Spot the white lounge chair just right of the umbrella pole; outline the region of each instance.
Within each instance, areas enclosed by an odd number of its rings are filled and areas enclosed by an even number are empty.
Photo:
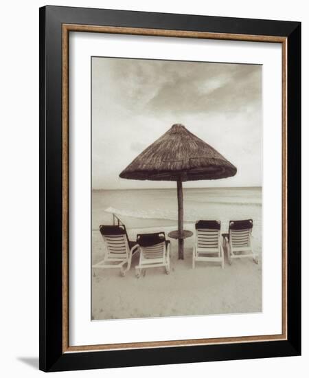
[[[225,267],[225,257],[220,238],[220,221],[198,221],[192,254],[192,268],[196,261],[218,262]]]

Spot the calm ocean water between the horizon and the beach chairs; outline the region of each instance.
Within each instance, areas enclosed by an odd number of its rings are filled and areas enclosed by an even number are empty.
[[[184,223],[199,219],[221,221],[227,232],[230,220],[253,219],[253,236],[262,235],[262,188],[183,188]],[[92,230],[112,224],[116,214],[128,230],[177,227],[175,189],[93,190]]]

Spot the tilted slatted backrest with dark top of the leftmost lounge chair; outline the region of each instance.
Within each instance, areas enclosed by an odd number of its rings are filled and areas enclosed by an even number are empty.
[[[128,236],[124,225],[100,225],[108,254],[115,258],[128,256]]]

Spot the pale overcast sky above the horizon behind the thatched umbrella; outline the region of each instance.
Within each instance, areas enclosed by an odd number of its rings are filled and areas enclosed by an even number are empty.
[[[238,168],[186,188],[262,186],[262,66],[92,58],[93,189],[174,188],[119,173],[175,123]]]

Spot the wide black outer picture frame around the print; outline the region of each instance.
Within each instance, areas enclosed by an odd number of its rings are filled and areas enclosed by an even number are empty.
[[[40,8],[40,361],[44,371],[301,354],[301,23],[187,14]],[[185,30],[287,41],[287,339],[63,353],[62,25]]]

